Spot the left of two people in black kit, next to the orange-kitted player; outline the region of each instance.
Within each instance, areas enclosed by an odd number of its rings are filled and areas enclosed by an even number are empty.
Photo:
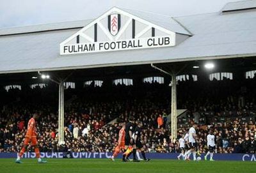
[[[134,132],[134,118],[129,117],[129,122],[125,124],[125,152],[123,154],[123,162],[127,162],[131,153],[125,154],[128,147],[132,146],[133,162],[140,162],[136,159],[136,146],[134,139],[132,139],[132,133]]]

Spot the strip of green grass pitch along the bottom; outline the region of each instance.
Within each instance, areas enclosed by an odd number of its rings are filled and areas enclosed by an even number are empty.
[[[186,162],[179,160],[150,160],[150,162],[111,162],[107,159],[47,159],[48,163],[38,164],[36,159],[22,159],[22,164],[14,163],[15,159],[0,159],[0,172],[15,173],[56,173],[56,172],[93,172],[93,173],[136,173],[136,172],[181,172],[181,173],[236,173],[256,172],[255,162]]]

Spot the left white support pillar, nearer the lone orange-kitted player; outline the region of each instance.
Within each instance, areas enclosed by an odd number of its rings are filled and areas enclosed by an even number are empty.
[[[58,119],[58,144],[64,142],[64,84],[59,84],[59,119]]]

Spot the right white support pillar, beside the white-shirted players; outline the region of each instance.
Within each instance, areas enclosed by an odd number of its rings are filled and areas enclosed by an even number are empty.
[[[172,74],[172,142],[177,139],[177,82],[176,82],[176,75]]]

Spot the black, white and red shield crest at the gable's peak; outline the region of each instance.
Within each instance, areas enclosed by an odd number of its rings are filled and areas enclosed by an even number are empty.
[[[113,35],[116,36],[121,26],[121,16],[120,14],[108,15],[108,30]]]

